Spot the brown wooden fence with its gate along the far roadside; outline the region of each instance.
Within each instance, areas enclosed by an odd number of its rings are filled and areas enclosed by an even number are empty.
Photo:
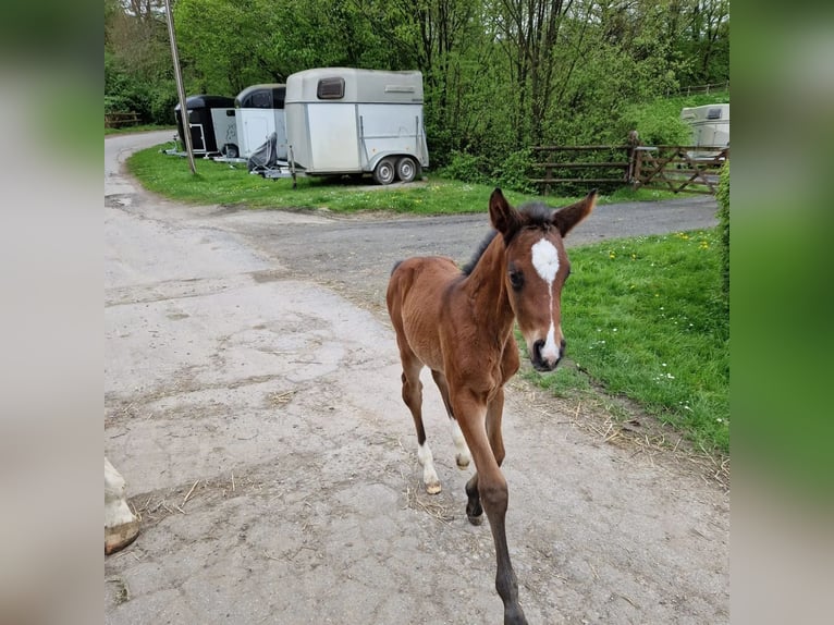
[[[721,166],[729,158],[729,148],[638,144],[539,146],[532,152],[530,182],[542,195],[625,185],[714,194]]]

